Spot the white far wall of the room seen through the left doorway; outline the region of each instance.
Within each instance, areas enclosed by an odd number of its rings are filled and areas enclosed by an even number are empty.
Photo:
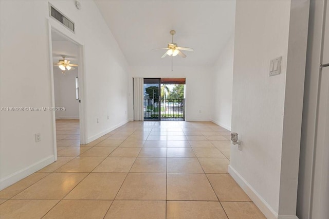
[[[62,70],[54,66],[55,106],[65,107],[65,111],[56,111],[56,119],[79,119],[79,101],[76,99],[76,76],[78,69],[71,69],[62,74]]]

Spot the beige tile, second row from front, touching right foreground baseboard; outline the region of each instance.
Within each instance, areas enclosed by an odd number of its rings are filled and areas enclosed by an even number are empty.
[[[229,174],[207,174],[207,177],[220,201],[251,202]]]

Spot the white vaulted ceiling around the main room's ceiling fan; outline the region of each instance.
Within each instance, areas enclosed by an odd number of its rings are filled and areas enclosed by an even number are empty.
[[[160,58],[174,29],[178,46],[193,47],[174,65],[213,65],[234,32],[235,1],[95,1],[130,65],[168,65]],[[96,25],[96,24],[95,24]]]

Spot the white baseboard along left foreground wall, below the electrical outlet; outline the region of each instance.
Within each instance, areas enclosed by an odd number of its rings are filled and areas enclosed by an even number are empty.
[[[50,163],[53,163],[55,161],[55,157],[53,155],[48,156],[38,162],[33,163],[32,165],[19,170],[15,173],[10,174],[7,177],[4,177],[0,180],[0,190],[3,190],[7,188],[8,186],[14,184],[15,182],[31,175],[32,173],[35,173],[38,170],[41,170],[42,168],[46,167],[47,165],[50,165]]]

